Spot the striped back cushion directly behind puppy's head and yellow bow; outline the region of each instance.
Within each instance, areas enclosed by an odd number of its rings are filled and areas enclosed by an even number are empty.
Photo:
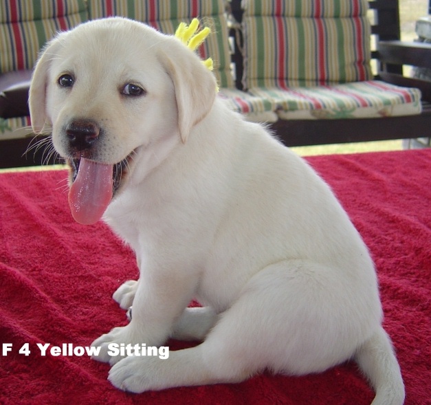
[[[214,32],[199,47],[201,57],[213,59],[214,74],[220,87],[234,87],[223,0],[89,0],[88,3],[91,19],[128,17],[148,23],[165,34],[174,34],[179,23],[190,23],[199,17]]]

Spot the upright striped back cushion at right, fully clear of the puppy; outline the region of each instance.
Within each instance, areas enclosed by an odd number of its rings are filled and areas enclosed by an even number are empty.
[[[246,5],[246,89],[372,78],[366,0],[248,0]]]

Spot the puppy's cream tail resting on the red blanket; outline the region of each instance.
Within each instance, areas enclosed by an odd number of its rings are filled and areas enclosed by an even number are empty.
[[[355,353],[355,360],[375,389],[371,405],[404,403],[404,383],[392,342],[381,327]]]

